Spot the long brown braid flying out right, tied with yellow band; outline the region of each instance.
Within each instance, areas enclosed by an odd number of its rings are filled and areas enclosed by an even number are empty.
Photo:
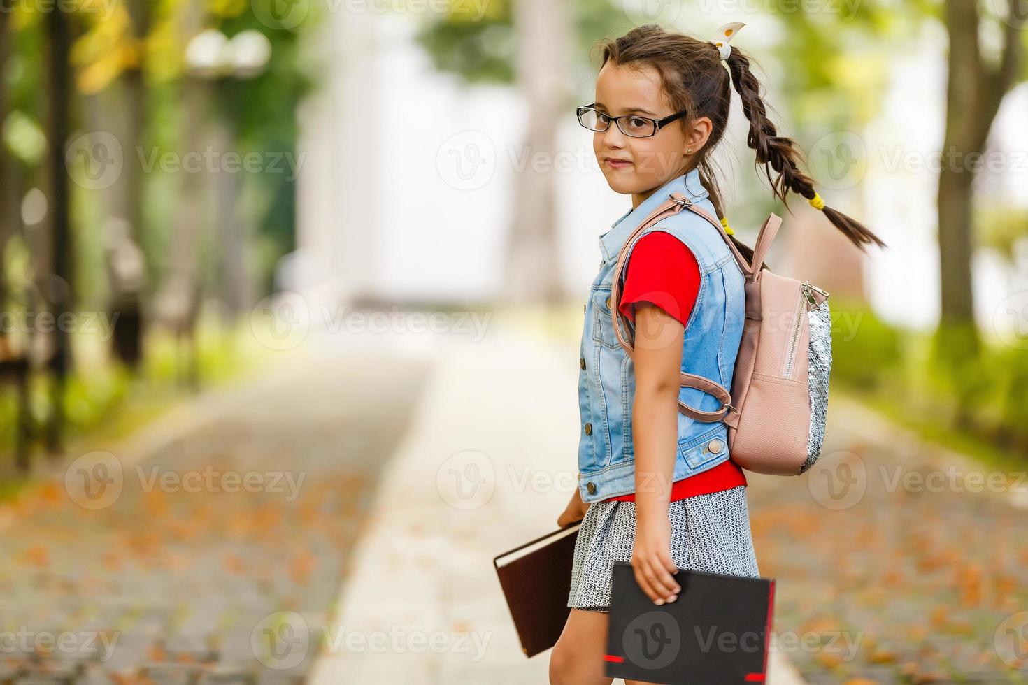
[[[749,60],[741,50],[733,47],[727,62],[732,73],[732,83],[742,100],[742,112],[749,121],[746,145],[757,152],[756,163],[758,166],[763,164],[774,194],[786,206],[788,206],[786,199],[788,191],[802,195],[812,206],[823,212],[828,220],[861,251],[866,252],[865,245],[870,243],[886,246],[881,238],[860,222],[837,210],[824,206],[824,201],[814,190],[813,180],[797,165],[801,154],[796,142],[791,138],[779,136],[774,123],[768,118],[764,99],[761,97],[761,83],[749,70]],[[772,177],[772,169],[777,176]]]

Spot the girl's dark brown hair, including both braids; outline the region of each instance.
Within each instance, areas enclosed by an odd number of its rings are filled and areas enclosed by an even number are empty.
[[[660,74],[664,93],[674,111],[687,112],[682,120],[683,126],[699,117],[709,117],[713,124],[710,137],[691,157],[691,163],[682,173],[699,168],[700,181],[710,193],[710,201],[719,216],[725,215],[722,212],[721,193],[710,162],[710,153],[721,142],[728,124],[732,85],[742,100],[742,113],[749,120],[746,144],[757,152],[756,164],[758,167],[764,166],[775,196],[786,207],[786,194],[790,191],[808,200],[814,197],[813,181],[798,166],[802,156],[796,142],[779,136],[768,118],[761,94],[761,83],[749,70],[749,59],[739,48],[732,47],[726,70],[721,53],[712,43],[688,34],[667,32],[656,24],[637,27],[617,39],[607,38],[595,47],[602,50],[600,68],[610,61],[615,65],[651,66],[656,69]],[[885,246],[877,235],[856,220],[828,206],[822,212],[860,250],[872,242]],[[751,249],[734,235],[731,237],[743,256],[747,259],[752,257]]]

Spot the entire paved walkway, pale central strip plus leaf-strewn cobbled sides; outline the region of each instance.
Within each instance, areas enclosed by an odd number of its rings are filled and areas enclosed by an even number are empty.
[[[363,336],[0,510],[0,683],[547,682],[491,558],[574,488],[577,341]],[[771,684],[1028,681],[1024,493],[832,403],[811,473],[749,477]]]

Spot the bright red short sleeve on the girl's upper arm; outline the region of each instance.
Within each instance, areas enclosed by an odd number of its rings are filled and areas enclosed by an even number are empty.
[[[635,321],[636,302],[651,302],[686,326],[700,291],[700,266],[692,251],[666,231],[639,238],[628,260],[620,311]]]

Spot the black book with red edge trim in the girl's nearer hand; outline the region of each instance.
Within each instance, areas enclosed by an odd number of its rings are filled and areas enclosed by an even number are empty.
[[[680,569],[678,598],[656,605],[628,562],[614,563],[607,675],[668,685],[767,678],[774,579]]]

